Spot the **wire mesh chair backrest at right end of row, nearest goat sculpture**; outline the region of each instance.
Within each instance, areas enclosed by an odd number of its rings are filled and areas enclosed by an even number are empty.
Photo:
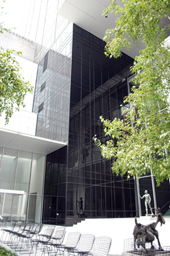
[[[106,256],[110,251],[112,239],[107,236],[96,237],[94,240],[93,251],[91,252],[94,256]]]

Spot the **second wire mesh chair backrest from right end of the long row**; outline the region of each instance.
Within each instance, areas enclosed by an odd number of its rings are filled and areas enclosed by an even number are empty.
[[[75,249],[78,250],[78,252],[90,252],[94,244],[94,239],[95,236],[92,234],[81,235],[78,246],[76,246]]]

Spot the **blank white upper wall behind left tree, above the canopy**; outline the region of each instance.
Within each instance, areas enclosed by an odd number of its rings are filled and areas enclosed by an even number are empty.
[[[36,44],[8,31],[3,31],[3,34],[1,34],[0,44],[3,49],[14,49],[15,51],[22,52],[22,55],[19,56],[14,54],[16,60],[22,67],[20,74],[22,74],[25,81],[29,81],[31,86],[34,87],[38,66],[33,62]],[[0,117],[0,128],[35,135],[37,115],[32,113],[33,98],[34,93],[27,93],[24,100],[25,108],[21,106],[20,111],[14,111],[8,125],[5,125],[5,115],[3,114]]]

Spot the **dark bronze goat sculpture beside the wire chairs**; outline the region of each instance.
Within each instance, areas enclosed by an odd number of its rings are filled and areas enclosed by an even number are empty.
[[[163,218],[163,215],[160,213],[160,208],[157,210],[155,209],[155,214],[153,214],[152,217],[157,216],[157,221],[150,223],[148,225],[143,225],[141,223],[137,222],[137,219],[135,217],[135,227],[134,227],[134,249],[136,249],[136,245],[139,247],[140,245],[145,248],[145,243],[151,243],[151,248],[154,248],[152,242],[155,240],[155,237],[157,238],[158,244],[159,244],[159,250],[162,250],[162,247],[160,245],[159,241],[159,233],[155,229],[157,227],[157,223],[160,222],[160,226],[162,224],[165,224],[166,221]],[[146,249],[145,249],[146,250]]]

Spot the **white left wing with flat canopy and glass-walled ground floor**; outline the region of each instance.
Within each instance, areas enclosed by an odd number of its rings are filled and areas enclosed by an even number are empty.
[[[4,49],[22,51],[22,55],[14,57],[22,67],[22,76],[34,86],[38,67],[33,61],[36,44],[8,31],[3,31],[0,42]],[[4,115],[0,118],[0,214],[41,222],[46,154],[66,143],[35,136],[37,115],[32,113],[33,98],[34,94],[27,95],[25,108],[14,111],[8,125]]]

